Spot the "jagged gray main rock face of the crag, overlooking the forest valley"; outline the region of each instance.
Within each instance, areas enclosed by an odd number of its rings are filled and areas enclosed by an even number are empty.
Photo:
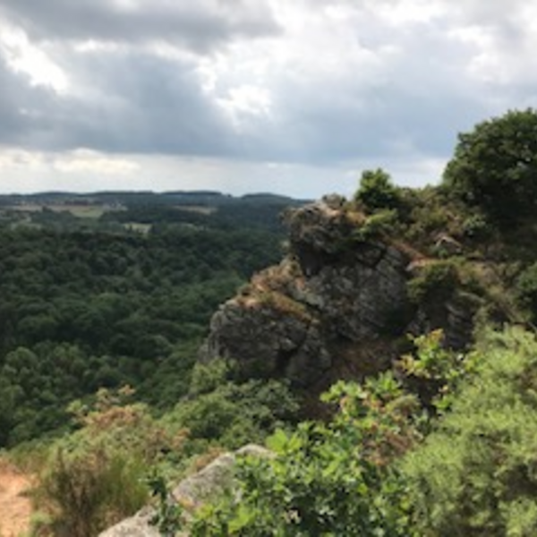
[[[310,387],[329,376],[341,341],[360,344],[408,308],[409,258],[382,242],[350,243],[356,223],[324,202],[294,212],[290,253],[213,316],[200,352],[245,376]]]

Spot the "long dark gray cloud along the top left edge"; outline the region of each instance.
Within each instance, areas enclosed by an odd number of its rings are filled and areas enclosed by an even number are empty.
[[[162,40],[206,52],[235,37],[277,34],[267,4],[242,0],[137,2],[125,7],[110,0],[3,0],[0,13],[35,41]]]

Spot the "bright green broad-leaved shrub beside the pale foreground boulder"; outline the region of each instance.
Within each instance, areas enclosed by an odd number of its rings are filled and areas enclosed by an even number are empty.
[[[415,401],[389,375],[338,383],[339,413],[268,439],[274,457],[246,458],[238,490],[202,507],[193,536],[412,535],[405,483],[390,462],[413,442]],[[237,498],[240,502],[237,502]]]

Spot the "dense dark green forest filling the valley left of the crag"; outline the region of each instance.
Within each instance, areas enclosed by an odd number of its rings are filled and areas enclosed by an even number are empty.
[[[0,446],[54,431],[72,400],[98,388],[129,385],[155,407],[175,405],[211,313],[278,260],[282,201],[225,197],[223,209],[202,211],[164,198],[99,217],[83,217],[89,203],[102,207],[95,197],[72,205],[72,196],[49,194],[32,199],[42,206],[29,213],[21,199],[4,205]],[[112,207],[120,203],[116,195]]]

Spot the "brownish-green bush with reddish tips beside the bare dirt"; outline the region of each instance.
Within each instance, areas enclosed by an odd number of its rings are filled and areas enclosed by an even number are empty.
[[[93,537],[149,500],[149,465],[182,447],[145,405],[122,402],[131,390],[99,390],[93,406],[71,406],[81,429],[55,442],[39,474],[36,503],[54,535]]]

